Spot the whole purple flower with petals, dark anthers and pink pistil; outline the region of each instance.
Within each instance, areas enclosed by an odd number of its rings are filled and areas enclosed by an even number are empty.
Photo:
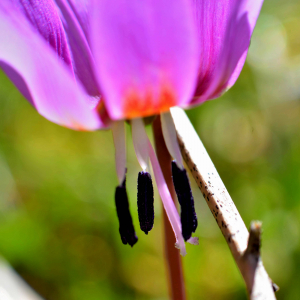
[[[154,224],[151,162],[158,191],[185,254],[196,243],[194,200],[170,115],[220,96],[239,76],[263,0],[2,0],[0,67],[44,117],[75,130],[110,128],[119,185],[122,242],[137,237],[126,193],[125,124],[137,159],[138,213]],[[174,158],[172,201],[144,120],[160,115]]]

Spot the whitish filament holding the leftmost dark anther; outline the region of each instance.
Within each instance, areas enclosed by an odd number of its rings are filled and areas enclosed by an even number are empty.
[[[121,186],[126,173],[126,137],[124,121],[112,122],[111,130],[115,144],[116,171],[119,186]]]

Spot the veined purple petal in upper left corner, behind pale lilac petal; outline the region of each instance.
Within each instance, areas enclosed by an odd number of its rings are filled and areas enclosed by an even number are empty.
[[[1,0],[19,8],[58,56],[71,68],[71,55],[64,28],[53,0]]]

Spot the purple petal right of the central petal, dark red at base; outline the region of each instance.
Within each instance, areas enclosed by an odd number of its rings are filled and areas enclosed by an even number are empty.
[[[191,104],[230,88],[244,65],[263,0],[195,0],[200,69]]]

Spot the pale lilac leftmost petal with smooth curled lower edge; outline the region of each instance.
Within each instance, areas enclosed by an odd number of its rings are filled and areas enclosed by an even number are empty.
[[[70,70],[10,4],[0,3],[0,66],[37,111],[77,130],[103,126]]]

